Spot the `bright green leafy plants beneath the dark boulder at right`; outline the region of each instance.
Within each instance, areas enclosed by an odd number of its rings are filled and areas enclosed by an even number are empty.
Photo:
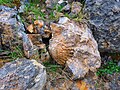
[[[120,72],[120,66],[117,65],[116,61],[110,61],[106,65],[103,65],[100,69],[98,69],[97,75],[103,76],[106,74],[113,74],[115,72]]]

